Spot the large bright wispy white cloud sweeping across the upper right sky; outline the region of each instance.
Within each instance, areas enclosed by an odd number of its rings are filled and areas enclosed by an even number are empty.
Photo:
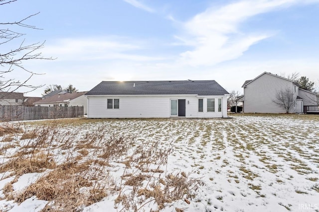
[[[308,3],[318,2],[309,0]],[[255,15],[289,7],[302,0],[240,0],[219,8],[210,7],[183,23],[184,33],[176,36],[180,44],[190,46],[178,63],[211,66],[233,60],[252,45],[273,36],[274,32],[245,32],[240,25]]]

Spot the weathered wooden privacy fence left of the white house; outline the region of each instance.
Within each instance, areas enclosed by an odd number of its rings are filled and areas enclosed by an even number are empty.
[[[38,119],[60,119],[83,117],[83,107],[42,107],[42,106],[0,106],[1,121],[22,121]]]

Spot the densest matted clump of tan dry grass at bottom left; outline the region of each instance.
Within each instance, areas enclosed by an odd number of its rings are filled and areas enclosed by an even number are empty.
[[[28,186],[20,195],[15,197],[17,203],[36,196],[40,200],[49,201],[44,210],[51,212],[70,211],[75,212],[82,207],[101,201],[107,196],[105,185],[94,182],[93,177],[88,175],[89,163],[68,161],[58,165],[47,175],[38,179]],[[110,183],[112,184],[112,183]]]

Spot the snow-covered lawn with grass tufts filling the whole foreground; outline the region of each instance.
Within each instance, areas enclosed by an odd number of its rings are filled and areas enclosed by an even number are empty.
[[[71,204],[47,185],[57,178],[64,190],[77,183],[73,211],[318,212],[319,116],[231,117],[21,125],[24,133],[0,137],[0,212]],[[37,165],[6,167],[13,159],[10,166]],[[38,185],[52,198],[41,198]]]

